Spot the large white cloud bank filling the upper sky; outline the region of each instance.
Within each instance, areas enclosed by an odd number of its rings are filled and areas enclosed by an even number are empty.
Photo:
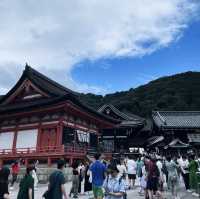
[[[48,75],[64,72],[73,89],[101,92],[71,78],[75,64],[166,47],[198,9],[198,0],[1,0],[0,70],[10,62],[22,70],[28,62]]]

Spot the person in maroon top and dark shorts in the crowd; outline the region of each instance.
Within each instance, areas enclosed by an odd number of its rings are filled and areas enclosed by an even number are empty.
[[[149,199],[153,199],[153,195],[162,198],[162,194],[158,190],[160,172],[156,165],[156,158],[150,157],[147,162],[147,192]]]

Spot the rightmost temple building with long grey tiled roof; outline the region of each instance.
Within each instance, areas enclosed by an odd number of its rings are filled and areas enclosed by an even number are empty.
[[[186,151],[200,148],[200,111],[153,111],[152,147],[166,151]]]

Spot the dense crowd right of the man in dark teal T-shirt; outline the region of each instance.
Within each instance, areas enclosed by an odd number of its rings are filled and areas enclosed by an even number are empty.
[[[85,184],[88,185],[88,181],[91,183],[89,190],[93,190],[95,199],[124,199],[127,190],[135,189],[136,180],[139,182],[138,194],[145,199],[163,199],[165,191],[171,194],[172,199],[178,199],[181,183],[184,183],[187,192],[197,195],[200,165],[194,154],[179,157],[139,155],[123,159],[113,158],[108,162],[96,154],[95,161],[88,165],[87,163],[85,176],[88,179],[85,179]],[[77,171],[76,175],[79,175],[78,166],[74,169]],[[76,182],[79,178],[75,177],[76,175],[73,176],[70,193],[70,196],[74,194],[74,198],[78,198],[79,194],[75,191],[78,190],[75,184],[79,186]]]

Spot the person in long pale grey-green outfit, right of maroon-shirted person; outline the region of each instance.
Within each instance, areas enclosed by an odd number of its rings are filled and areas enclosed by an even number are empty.
[[[178,198],[177,188],[179,183],[178,177],[178,165],[170,156],[167,157],[166,168],[168,171],[168,188],[171,190],[172,197]]]

